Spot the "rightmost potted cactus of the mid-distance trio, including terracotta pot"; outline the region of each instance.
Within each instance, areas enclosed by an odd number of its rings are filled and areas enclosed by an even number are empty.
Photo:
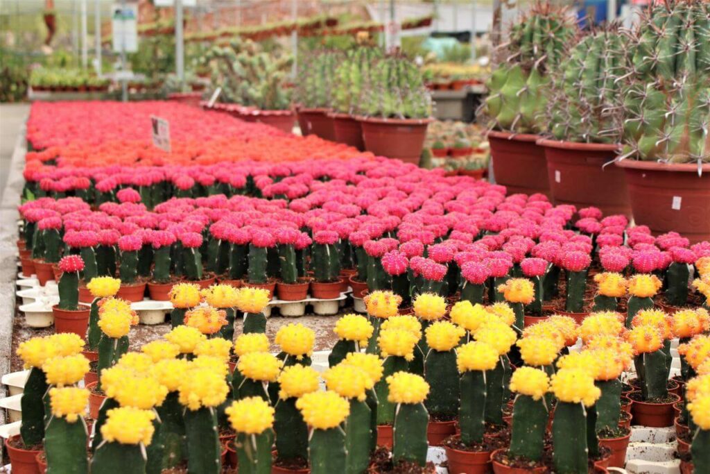
[[[376,58],[370,70],[358,117],[365,148],[418,165],[432,122],[431,97],[422,72],[403,55]]]

